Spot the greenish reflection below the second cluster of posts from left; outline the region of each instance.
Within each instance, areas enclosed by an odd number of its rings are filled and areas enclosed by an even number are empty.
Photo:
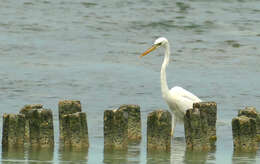
[[[63,162],[86,163],[88,162],[88,148],[59,147],[59,160]]]

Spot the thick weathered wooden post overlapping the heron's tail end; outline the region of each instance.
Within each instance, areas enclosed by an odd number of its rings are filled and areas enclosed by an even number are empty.
[[[188,150],[215,149],[217,105],[215,102],[194,103],[184,116],[186,147]]]

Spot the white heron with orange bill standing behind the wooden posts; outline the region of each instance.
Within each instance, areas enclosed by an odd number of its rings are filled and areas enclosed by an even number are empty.
[[[201,102],[201,100],[182,87],[175,86],[172,89],[168,88],[166,67],[170,61],[170,45],[166,38],[160,37],[156,39],[152,47],[141,54],[140,57],[147,55],[159,47],[165,48],[164,60],[161,68],[161,91],[163,99],[166,101],[173,114],[171,132],[173,135],[177,120],[183,120],[185,111],[192,108],[193,103]]]

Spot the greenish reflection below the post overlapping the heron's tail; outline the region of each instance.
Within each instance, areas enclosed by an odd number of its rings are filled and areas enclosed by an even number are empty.
[[[185,151],[184,163],[204,164],[208,159],[208,152]]]

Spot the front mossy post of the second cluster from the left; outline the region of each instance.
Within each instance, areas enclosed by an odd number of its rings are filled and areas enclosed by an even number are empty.
[[[84,112],[62,115],[63,145],[67,148],[88,148],[87,116]]]

